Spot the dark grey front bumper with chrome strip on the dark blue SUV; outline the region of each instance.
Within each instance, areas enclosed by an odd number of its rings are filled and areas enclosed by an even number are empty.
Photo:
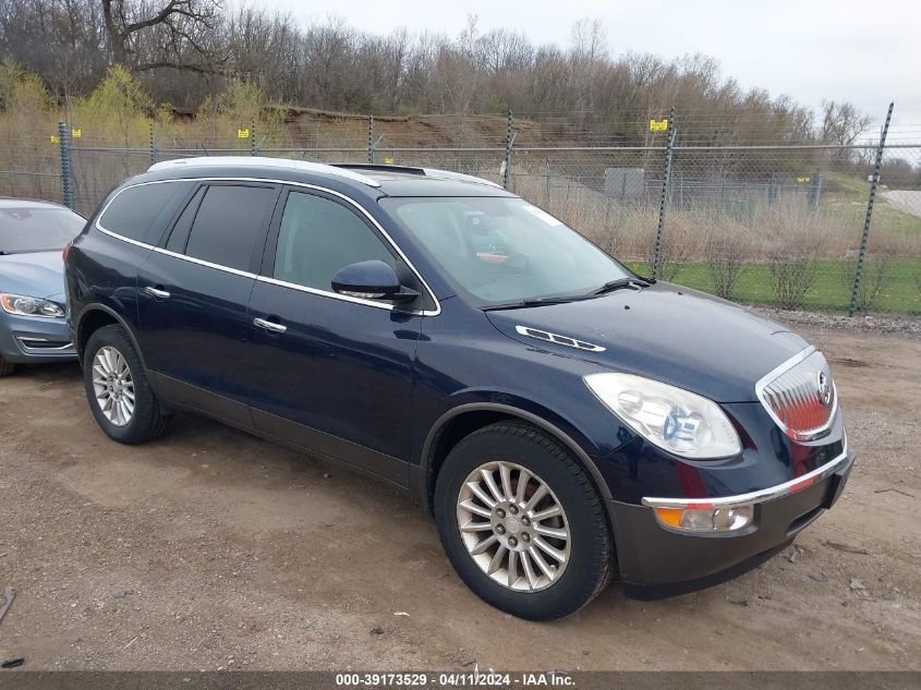
[[[809,477],[740,496],[695,499],[726,506],[753,503],[754,520],[738,532],[681,532],[659,523],[650,506],[607,501],[625,593],[632,598],[663,598],[719,584],[751,570],[832,507],[852,467],[853,453],[845,452]]]

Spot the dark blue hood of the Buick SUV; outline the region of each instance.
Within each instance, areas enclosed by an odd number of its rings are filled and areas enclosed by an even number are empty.
[[[663,282],[581,302],[486,314],[502,334],[525,344],[717,402],[755,402],[755,382],[809,344],[731,302]],[[519,327],[572,338],[595,350],[542,341]]]

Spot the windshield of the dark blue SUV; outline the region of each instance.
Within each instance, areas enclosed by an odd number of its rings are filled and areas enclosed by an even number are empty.
[[[562,221],[521,198],[385,197],[380,205],[478,306],[581,296],[633,277]]]

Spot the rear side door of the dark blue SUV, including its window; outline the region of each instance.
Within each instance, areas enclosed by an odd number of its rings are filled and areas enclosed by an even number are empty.
[[[243,426],[246,310],[278,194],[274,184],[199,185],[137,277],[138,341],[158,392]]]

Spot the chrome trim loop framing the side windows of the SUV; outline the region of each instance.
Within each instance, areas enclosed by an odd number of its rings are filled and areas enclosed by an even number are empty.
[[[206,261],[201,259],[201,258],[195,258],[194,256],[186,256],[185,254],[178,254],[175,252],[170,252],[169,250],[165,250],[165,249],[159,247],[159,246],[154,246],[153,244],[147,244],[146,242],[141,242],[138,240],[133,240],[131,238],[126,238],[124,235],[119,234],[118,232],[113,232],[112,230],[108,230],[100,225],[99,220],[101,220],[102,216],[106,215],[106,211],[109,209],[109,206],[112,204],[112,202],[114,202],[118,198],[119,194],[121,194],[125,190],[134,189],[136,186],[144,186],[144,185],[147,185],[147,184],[166,184],[168,182],[264,182],[264,183],[267,183],[267,184],[284,184],[284,185],[289,185],[289,186],[314,190],[316,192],[323,192],[325,194],[329,194],[331,196],[335,196],[336,198],[340,198],[343,202],[351,205],[352,207],[356,208],[359,211],[361,211],[362,216],[364,218],[367,218],[367,220],[375,228],[377,228],[377,230],[380,232],[380,234],[384,237],[384,239],[387,241],[387,243],[389,243],[389,245],[393,249],[393,251],[397,252],[399,257],[405,262],[407,266],[410,267],[410,270],[412,270],[413,275],[419,279],[419,281],[425,288],[425,291],[428,292],[428,295],[432,298],[432,301],[435,302],[435,308],[434,310],[421,310],[421,311],[419,311],[419,310],[413,310],[413,311],[410,311],[410,310],[402,311],[402,310],[400,310],[400,312],[404,313],[404,314],[414,314],[414,315],[419,315],[419,316],[438,316],[441,313],[441,303],[438,301],[438,298],[435,296],[435,292],[432,290],[432,288],[428,286],[428,283],[422,277],[422,274],[419,271],[419,269],[413,265],[413,263],[409,259],[409,257],[403,253],[403,251],[400,249],[400,246],[393,241],[393,238],[391,238],[390,234],[381,227],[381,225],[379,222],[377,222],[377,220],[374,218],[374,216],[372,216],[367,211],[367,209],[365,209],[361,204],[359,204],[354,199],[350,198],[346,194],[342,194],[341,192],[337,192],[336,190],[329,190],[325,186],[319,186],[319,185],[316,185],[316,184],[308,184],[306,182],[292,182],[292,181],[289,181],[289,180],[268,180],[268,179],[263,179],[263,178],[175,178],[175,179],[170,179],[170,180],[152,180],[149,182],[138,182],[136,184],[129,184],[128,186],[119,190],[116,193],[116,195],[112,196],[112,198],[110,198],[106,203],[106,205],[102,207],[102,210],[99,211],[99,215],[96,217],[96,221],[94,222],[94,227],[97,230],[99,230],[100,232],[104,232],[105,234],[108,234],[109,237],[116,238],[117,240],[122,240],[123,242],[128,242],[129,244],[133,244],[135,246],[141,246],[141,247],[144,247],[146,250],[157,252],[158,254],[165,254],[167,256],[180,258],[180,259],[183,259],[183,261],[186,261],[186,262],[191,262],[193,264],[198,264],[199,266],[206,266],[208,268],[214,268],[216,270],[223,270],[226,273],[233,274],[235,276],[254,278],[255,280],[258,280],[259,282],[266,282],[266,283],[279,286],[279,287],[282,287],[282,288],[291,288],[293,290],[300,290],[301,292],[317,294],[319,296],[327,296],[327,298],[331,298],[334,300],[341,300],[342,302],[352,302],[352,303],[355,303],[355,304],[364,304],[365,306],[373,306],[375,308],[386,308],[386,310],[389,310],[389,311],[395,311],[396,307],[395,307],[393,304],[373,302],[371,300],[362,300],[360,298],[351,298],[349,295],[339,294],[338,292],[331,292],[331,291],[328,291],[328,290],[319,290],[317,288],[308,288],[306,286],[299,286],[299,285],[293,283],[293,282],[287,282],[284,280],[278,280],[277,278],[272,278],[270,276],[259,276],[259,275],[256,275],[256,274],[252,274],[250,271],[239,270],[237,268],[230,268],[229,266],[221,266],[219,264],[213,264],[210,262],[206,262]]]

